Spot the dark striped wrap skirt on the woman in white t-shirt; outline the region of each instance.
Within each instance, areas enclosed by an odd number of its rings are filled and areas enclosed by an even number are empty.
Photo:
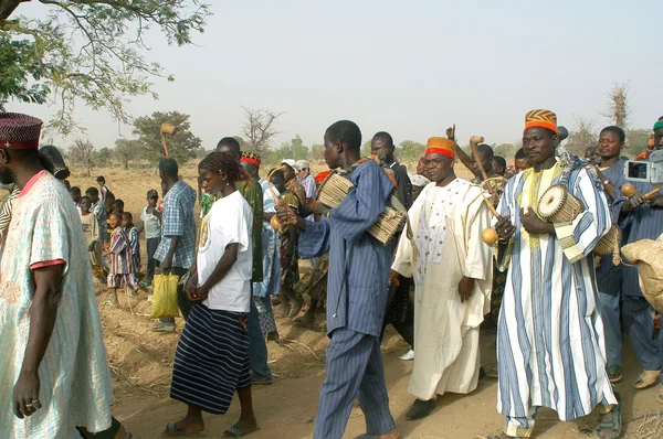
[[[251,386],[243,313],[191,308],[172,367],[170,397],[223,415],[235,389]]]

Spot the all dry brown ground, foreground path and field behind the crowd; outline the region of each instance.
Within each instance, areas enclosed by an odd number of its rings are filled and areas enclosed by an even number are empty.
[[[145,205],[145,194],[160,184],[151,170],[96,170],[91,178],[75,173],[70,180],[80,185],[83,192],[95,185],[96,174],[104,174],[116,196],[125,201],[126,211],[139,216]],[[181,170],[182,178],[192,186],[196,182],[196,168]],[[145,245],[143,246],[145,251]],[[145,255],[144,255],[145,258]],[[144,259],[145,260],[145,259]],[[104,287],[97,285],[98,291]],[[160,335],[149,332],[149,303],[146,293],[129,299],[120,297],[120,308],[101,306],[102,320],[108,361],[115,382],[115,416],[120,419],[135,438],[158,438],[167,422],[179,419],[182,404],[168,398],[168,386],[178,335]],[[181,323],[178,323],[181,328]],[[324,379],[324,357],[327,344],[322,332],[296,328],[286,320],[278,321],[281,335],[287,344],[269,343],[270,365],[276,382],[272,386],[254,388],[254,408],[262,429],[251,438],[306,438],[313,432],[317,397]],[[483,363],[495,363],[494,335],[482,334]],[[402,437],[407,438],[467,438],[476,439],[496,433],[502,428],[503,418],[495,410],[496,382],[483,381],[471,395],[445,395],[438,400],[438,408],[421,421],[407,421],[403,418],[412,397],[407,386],[412,364],[398,360],[407,346],[392,331],[388,332],[383,345],[387,385],[390,395],[391,413]],[[630,351],[625,351],[625,378],[619,385],[624,399],[624,437],[655,438],[636,433],[643,421],[652,429],[659,419],[646,418],[663,410],[654,398],[654,390],[635,393],[631,383],[639,366]],[[239,416],[236,400],[227,416],[207,416],[208,436],[219,437]],[[555,413],[543,410],[537,422],[538,438],[587,438],[596,416],[573,422],[559,422]],[[365,432],[364,419],[359,409],[354,409],[346,437]]]

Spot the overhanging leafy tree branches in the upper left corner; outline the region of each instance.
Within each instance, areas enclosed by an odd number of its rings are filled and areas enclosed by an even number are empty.
[[[190,44],[210,15],[201,0],[38,0],[43,19],[14,18],[23,1],[0,0],[0,62],[12,66],[0,74],[0,104],[57,100],[48,126],[63,135],[80,128],[76,100],[129,122],[129,96],[156,98],[150,79],[173,79],[140,54],[148,50],[146,33],[156,28],[169,44]]]

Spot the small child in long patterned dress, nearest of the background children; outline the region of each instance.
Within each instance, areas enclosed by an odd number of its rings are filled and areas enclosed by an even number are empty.
[[[110,259],[107,285],[112,289],[110,303],[118,304],[117,289],[119,287],[129,288],[131,291],[136,291],[139,287],[136,282],[129,237],[120,227],[122,214],[113,212],[108,215],[108,222],[114,232],[110,242],[106,244],[106,251],[104,251],[104,255]]]

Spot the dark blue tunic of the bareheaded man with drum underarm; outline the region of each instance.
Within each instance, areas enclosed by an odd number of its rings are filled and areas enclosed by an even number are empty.
[[[385,211],[394,186],[372,160],[359,164],[350,181],[356,189],[332,210],[328,221],[306,223],[299,254],[308,259],[329,251],[327,334],[347,328],[379,336],[393,248],[367,231]]]

